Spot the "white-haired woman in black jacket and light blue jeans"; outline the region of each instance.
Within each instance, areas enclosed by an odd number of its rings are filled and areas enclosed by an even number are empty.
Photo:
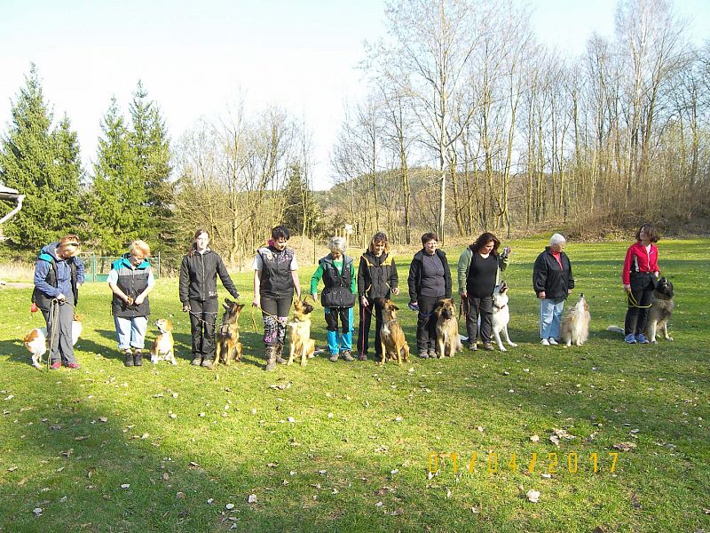
[[[552,235],[549,246],[540,253],[533,267],[533,289],[540,298],[540,339],[542,346],[556,345],[564,300],[574,289],[572,265],[564,253],[567,240],[560,234]]]

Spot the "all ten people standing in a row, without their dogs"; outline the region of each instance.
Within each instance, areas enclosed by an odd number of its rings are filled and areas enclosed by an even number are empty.
[[[298,263],[293,249],[287,246],[290,235],[286,227],[274,227],[267,246],[256,252],[253,262],[254,299],[252,305],[261,309],[264,319],[266,369],[285,362],[283,347],[288,312],[294,296],[301,298]],[[622,271],[624,290],[628,295],[625,339],[629,344],[646,343],[643,336],[651,304],[652,292],[659,276],[658,234],[651,224],[636,232],[636,243],[629,247]],[[549,246],[540,253],[533,267],[533,289],[540,298],[540,339],[545,346],[556,344],[564,300],[574,288],[572,265],[564,254],[564,236],[555,234]],[[457,264],[459,293],[466,309],[466,331],[469,348],[477,349],[477,339],[485,350],[492,350],[493,289],[500,282],[501,271],[509,264],[510,249],[499,253],[500,241],[485,232],[461,253]],[[398,274],[389,250],[387,235],[378,232],[367,251],[359,259],[357,277],[354,262],[347,256],[342,237],[328,243],[330,253],[319,260],[312,275],[310,293],[318,298],[319,282],[324,290],[321,303],[327,323],[327,344],[330,361],[339,357],[352,361],[352,309],[359,305],[359,335],[357,354],[367,360],[369,331],[375,314],[375,339],[383,325],[382,312],[375,298],[398,295]],[[51,345],[51,369],[62,363],[78,369],[71,342],[72,320],[78,302],[79,286],[84,281],[84,267],[77,257],[80,241],[76,235],[65,235],[56,243],[43,247],[36,261],[33,303],[42,311],[47,323],[48,338],[57,338]],[[121,259],[114,262],[108,275],[113,292],[111,309],[114,315],[116,339],[125,356],[126,366],[140,366],[145,346],[147,317],[150,314],[148,295],[154,289],[154,274],[148,258],[150,247],[143,241],[130,244]],[[179,298],[183,311],[190,314],[192,363],[210,367],[215,356],[217,322],[217,275],[233,298],[240,298],[232,278],[219,257],[209,249],[209,234],[199,229],[194,234],[190,251],[180,267]],[[434,307],[442,298],[451,298],[452,276],[446,253],[438,249],[438,236],[422,235],[422,250],[414,254],[407,278],[409,306],[417,311],[416,343],[420,357],[435,354],[436,322]],[[357,298],[356,298],[357,295]],[[480,328],[478,320],[480,319]],[[375,341],[375,356],[382,357],[382,348]]]

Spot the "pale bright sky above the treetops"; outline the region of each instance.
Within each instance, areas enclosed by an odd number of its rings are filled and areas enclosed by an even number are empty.
[[[583,52],[592,31],[611,35],[613,0],[535,0],[544,42]],[[710,37],[710,2],[676,2],[691,38]],[[138,79],[179,138],[201,116],[269,103],[313,133],[314,181],[328,187],[328,151],[343,104],[363,94],[363,42],[384,34],[382,0],[0,0],[0,131],[34,61],[55,118],[65,112],[90,170],[99,121],[112,96],[127,113]]]

